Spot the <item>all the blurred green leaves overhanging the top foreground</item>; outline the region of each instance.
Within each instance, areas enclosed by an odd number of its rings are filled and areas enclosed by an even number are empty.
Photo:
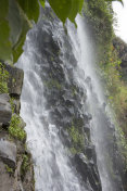
[[[43,8],[45,1],[39,0]],[[102,2],[100,0],[100,4]],[[49,0],[49,3],[63,23],[66,18],[75,23],[84,0]],[[96,1],[93,5],[96,10]],[[0,60],[14,63],[23,52],[26,33],[31,27],[30,21],[38,20],[38,0],[0,0]]]

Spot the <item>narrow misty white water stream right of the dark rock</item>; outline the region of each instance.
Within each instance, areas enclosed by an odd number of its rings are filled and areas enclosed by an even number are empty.
[[[92,114],[91,138],[96,145],[97,163],[102,182],[102,191],[116,191],[109,177],[109,166],[112,164],[107,164],[110,163],[109,154],[104,149],[104,128],[107,128],[105,109],[103,107],[105,97],[101,81],[99,80],[99,77],[96,73],[96,69],[99,68],[94,62],[94,43],[92,38],[90,38],[89,31],[87,31],[87,25],[85,24],[85,21],[78,15],[76,22],[78,26],[77,31],[71,24],[68,26],[68,31],[74,44],[74,52],[76,55],[78,55],[76,58],[79,67],[85,72],[85,78],[80,78],[78,75],[76,77],[78,84],[87,89],[87,112]],[[75,40],[76,38],[78,46]],[[87,77],[90,77],[91,79],[90,85],[85,82]],[[100,110],[102,114],[100,113]]]

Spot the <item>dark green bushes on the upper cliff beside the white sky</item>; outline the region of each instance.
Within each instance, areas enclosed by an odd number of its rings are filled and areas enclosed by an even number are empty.
[[[96,43],[100,44],[98,48],[104,52],[113,37],[112,4],[104,0],[85,1],[84,14],[91,26],[90,30],[92,30]]]

